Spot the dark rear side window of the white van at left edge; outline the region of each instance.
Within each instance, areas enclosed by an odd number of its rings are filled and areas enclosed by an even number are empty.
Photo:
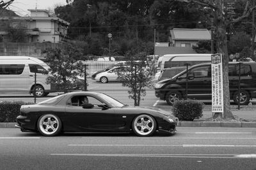
[[[21,74],[25,64],[0,64],[0,74]]]

